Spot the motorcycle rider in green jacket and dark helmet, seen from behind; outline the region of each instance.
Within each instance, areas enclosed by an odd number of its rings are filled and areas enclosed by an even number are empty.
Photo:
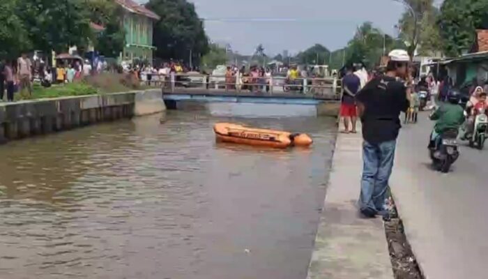
[[[430,120],[436,121],[434,130],[432,130],[430,135],[429,149],[436,148],[437,141],[441,139],[443,133],[448,130],[458,130],[464,123],[464,110],[459,105],[461,92],[457,89],[450,89],[447,99],[448,103],[439,107],[429,116]]]

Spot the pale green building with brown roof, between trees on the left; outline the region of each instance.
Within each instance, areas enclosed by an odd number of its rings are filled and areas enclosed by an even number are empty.
[[[125,29],[125,46],[121,59],[123,61],[139,59],[152,63],[155,50],[153,23],[160,17],[133,0],[115,1],[123,8],[122,24]]]

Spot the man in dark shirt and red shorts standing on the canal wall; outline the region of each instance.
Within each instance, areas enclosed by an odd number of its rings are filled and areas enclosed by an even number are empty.
[[[342,78],[342,93],[341,100],[341,117],[344,121],[344,131],[342,133],[349,133],[349,119],[351,119],[351,133],[356,133],[356,101],[354,100],[356,93],[360,89],[360,80],[357,75],[354,75],[353,66],[346,67],[346,75]]]

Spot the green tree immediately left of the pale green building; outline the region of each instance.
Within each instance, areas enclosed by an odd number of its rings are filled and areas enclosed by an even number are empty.
[[[86,0],[86,6],[90,10],[91,22],[105,27],[94,38],[96,50],[107,57],[119,56],[125,43],[122,8],[112,0]]]

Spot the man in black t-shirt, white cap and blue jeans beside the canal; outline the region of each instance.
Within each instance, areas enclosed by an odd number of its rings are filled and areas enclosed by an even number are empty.
[[[404,50],[393,50],[386,75],[375,77],[356,95],[363,123],[363,178],[360,211],[374,217],[386,213],[388,179],[392,172],[400,125],[399,114],[409,108],[410,91],[404,82],[410,57]]]

